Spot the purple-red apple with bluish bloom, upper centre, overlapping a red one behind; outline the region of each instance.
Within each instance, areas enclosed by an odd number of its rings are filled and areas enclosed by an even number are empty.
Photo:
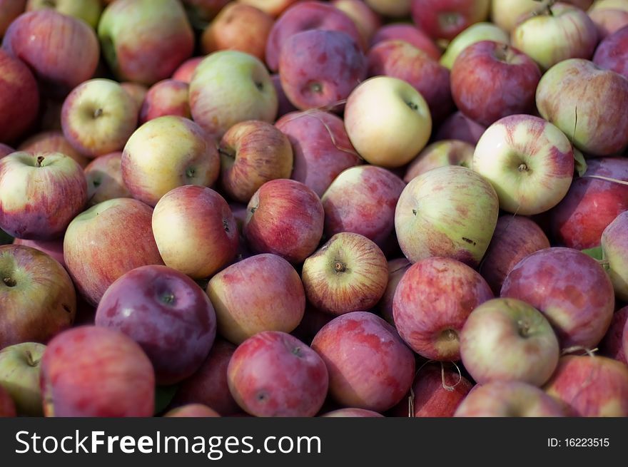
[[[288,100],[307,110],[340,105],[364,81],[367,63],[360,46],[348,34],[310,29],[285,39],[278,69]]]

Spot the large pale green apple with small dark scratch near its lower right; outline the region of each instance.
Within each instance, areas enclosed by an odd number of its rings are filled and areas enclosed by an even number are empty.
[[[476,267],[495,231],[498,212],[497,194],[487,180],[473,170],[448,165],[406,185],[395,210],[395,232],[412,263],[442,256]]]

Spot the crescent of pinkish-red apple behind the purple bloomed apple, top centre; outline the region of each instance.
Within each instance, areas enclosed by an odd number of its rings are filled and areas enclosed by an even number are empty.
[[[358,28],[343,11],[323,1],[300,1],[285,11],[270,30],[265,53],[270,71],[278,71],[281,49],[290,36],[310,29],[341,31],[362,48],[365,46]]]

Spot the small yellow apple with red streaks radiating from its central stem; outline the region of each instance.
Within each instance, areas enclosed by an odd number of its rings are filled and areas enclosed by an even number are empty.
[[[301,277],[308,301],[338,315],[375,307],[386,290],[388,264],[367,237],[340,232],[303,262]]]

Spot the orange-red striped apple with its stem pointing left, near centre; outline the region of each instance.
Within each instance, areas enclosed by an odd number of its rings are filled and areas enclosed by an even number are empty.
[[[233,125],[218,146],[221,186],[233,200],[248,203],[266,182],[290,178],[293,151],[278,128],[262,120]]]

